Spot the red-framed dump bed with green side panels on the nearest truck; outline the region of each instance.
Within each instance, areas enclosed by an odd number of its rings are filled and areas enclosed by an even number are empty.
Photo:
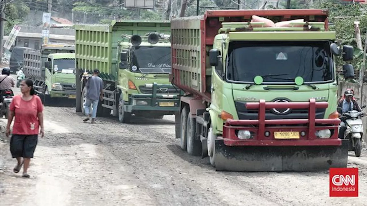
[[[222,22],[249,22],[257,15],[274,22],[293,19],[325,22],[326,9],[217,10],[203,16],[175,18],[171,21],[172,74],[170,80],[185,92],[210,101],[211,66],[207,55]]]

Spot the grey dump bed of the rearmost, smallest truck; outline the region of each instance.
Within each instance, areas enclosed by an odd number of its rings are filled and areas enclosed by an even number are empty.
[[[45,81],[45,65],[47,56],[54,53],[74,53],[73,45],[48,44],[41,50],[24,50],[23,72],[26,78],[37,81]]]

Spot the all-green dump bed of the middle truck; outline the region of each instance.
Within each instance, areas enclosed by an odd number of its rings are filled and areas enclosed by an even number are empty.
[[[115,81],[119,69],[117,46],[122,40],[121,35],[144,36],[149,32],[170,34],[170,22],[121,20],[106,25],[75,25],[76,69],[92,71],[98,68],[103,79]]]

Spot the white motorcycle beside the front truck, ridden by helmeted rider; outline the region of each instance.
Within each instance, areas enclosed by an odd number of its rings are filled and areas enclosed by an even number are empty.
[[[366,105],[361,107],[361,109],[365,107]],[[341,111],[342,108],[338,107],[338,110]],[[351,110],[341,114],[340,117],[340,120],[344,122],[346,126],[343,137],[344,139],[349,139],[348,151],[354,151],[356,157],[360,157],[362,151],[363,123],[361,117],[363,116],[363,111]]]

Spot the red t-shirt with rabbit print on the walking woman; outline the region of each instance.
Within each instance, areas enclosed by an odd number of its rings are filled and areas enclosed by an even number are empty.
[[[43,111],[39,96],[33,95],[33,98],[29,101],[22,99],[22,95],[14,96],[9,109],[15,113],[13,134],[38,135],[39,121],[37,114]]]

